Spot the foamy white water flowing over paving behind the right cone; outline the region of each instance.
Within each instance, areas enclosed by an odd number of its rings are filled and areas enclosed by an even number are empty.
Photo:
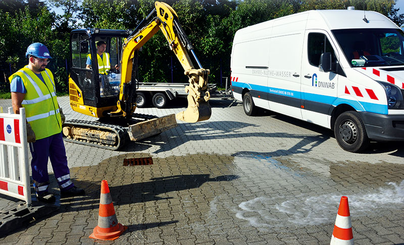
[[[375,193],[347,195],[352,219],[377,215],[385,209],[404,208],[404,180],[389,182]],[[258,197],[243,202],[236,217],[249,221],[251,226],[271,228],[296,225],[319,225],[334,222],[341,196],[325,194],[316,197],[295,197],[277,203],[278,198]]]

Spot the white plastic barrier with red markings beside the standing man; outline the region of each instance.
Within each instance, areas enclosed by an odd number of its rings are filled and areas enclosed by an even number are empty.
[[[0,107],[0,112],[3,108]],[[0,113],[0,193],[31,205],[25,109]]]

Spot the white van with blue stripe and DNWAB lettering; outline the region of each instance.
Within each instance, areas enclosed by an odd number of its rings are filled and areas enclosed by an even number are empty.
[[[234,98],[334,130],[341,148],[404,141],[404,33],[370,11],[315,10],[236,32]]]

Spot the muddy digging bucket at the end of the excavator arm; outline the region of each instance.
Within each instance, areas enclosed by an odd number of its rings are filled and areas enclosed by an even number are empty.
[[[185,87],[188,93],[188,107],[176,114],[178,120],[188,123],[196,123],[211,118],[212,109],[209,104],[211,95],[208,91],[208,75],[210,71],[205,69],[192,69],[185,72],[189,77],[189,85]]]

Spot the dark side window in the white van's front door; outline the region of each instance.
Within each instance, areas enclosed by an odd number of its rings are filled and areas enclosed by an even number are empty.
[[[332,62],[336,61],[334,49],[323,33],[309,33],[308,52],[309,63],[315,67],[320,65],[320,55],[324,52],[330,52]]]

